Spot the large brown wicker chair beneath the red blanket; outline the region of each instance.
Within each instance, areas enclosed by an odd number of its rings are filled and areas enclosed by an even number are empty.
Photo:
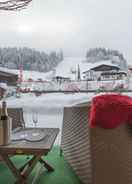
[[[132,132],[88,127],[88,105],[64,108],[61,149],[84,184],[132,184]]]

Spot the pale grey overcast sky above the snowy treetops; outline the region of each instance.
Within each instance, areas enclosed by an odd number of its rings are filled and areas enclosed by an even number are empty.
[[[20,12],[1,11],[0,22],[2,47],[62,48],[78,57],[106,47],[132,61],[131,0],[33,0]]]

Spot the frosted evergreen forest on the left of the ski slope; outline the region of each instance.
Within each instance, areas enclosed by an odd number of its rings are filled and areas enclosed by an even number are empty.
[[[62,51],[59,54],[54,51],[46,54],[27,47],[0,48],[0,65],[11,69],[19,69],[23,65],[24,70],[48,72],[62,60]]]

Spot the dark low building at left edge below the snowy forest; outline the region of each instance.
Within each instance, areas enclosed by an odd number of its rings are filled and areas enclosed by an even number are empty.
[[[8,86],[15,86],[17,84],[17,81],[17,74],[0,70],[0,83],[6,83]]]

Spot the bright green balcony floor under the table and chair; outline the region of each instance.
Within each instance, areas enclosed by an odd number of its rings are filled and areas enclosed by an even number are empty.
[[[80,184],[80,180],[75,175],[72,168],[65,161],[64,157],[59,155],[59,147],[53,147],[52,151],[45,157],[49,164],[51,164],[54,168],[54,172],[47,172],[43,170],[39,179],[37,179],[37,184]],[[24,162],[27,161],[25,156],[15,156],[12,157],[12,160],[15,165],[19,168],[23,165]],[[40,164],[37,164],[30,177],[28,179],[28,183],[31,184],[34,176],[40,168]],[[0,163],[0,184],[13,184],[15,182],[15,178],[10,172],[10,170],[6,167],[2,162]]]

